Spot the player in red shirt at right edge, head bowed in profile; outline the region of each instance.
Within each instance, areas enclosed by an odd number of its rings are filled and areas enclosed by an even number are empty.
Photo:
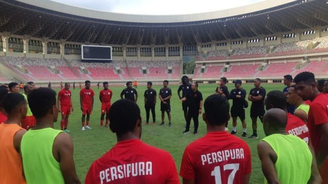
[[[307,125],[319,172],[323,183],[328,183],[328,98],[317,89],[314,74],[311,72],[297,74],[294,82],[302,99],[311,101]]]

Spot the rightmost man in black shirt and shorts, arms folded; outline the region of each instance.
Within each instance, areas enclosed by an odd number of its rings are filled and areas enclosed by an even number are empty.
[[[252,102],[251,106],[251,119],[253,134],[249,138],[257,138],[257,117],[263,123],[264,116],[264,98],[266,95],[265,88],[261,86],[261,79],[256,78],[254,80],[254,88],[251,89],[248,100]]]

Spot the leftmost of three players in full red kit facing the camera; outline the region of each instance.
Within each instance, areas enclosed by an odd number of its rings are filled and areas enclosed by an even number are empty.
[[[58,109],[60,109],[59,112],[61,112],[60,129],[64,130],[65,132],[70,132],[67,129],[68,117],[71,114],[71,110],[72,112],[74,111],[72,100],[71,100],[72,93],[69,90],[70,86],[71,84],[69,82],[65,83],[64,88],[61,89],[58,93],[58,100],[57,100]]]

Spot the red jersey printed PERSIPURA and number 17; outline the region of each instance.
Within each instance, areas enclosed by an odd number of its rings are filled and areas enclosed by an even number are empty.
[[[186,147],[180,175],[195,183],[227,184],[243,183],[251,171],[251,151],[246,142],[222,131],[207,133]]]

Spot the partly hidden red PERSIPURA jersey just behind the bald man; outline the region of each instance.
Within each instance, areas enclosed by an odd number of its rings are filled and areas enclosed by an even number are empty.
[[[308,144],[310,132],[306,124],[300,118],[288,113],[285,131],[287,134],[295,135],[303,139]]]

